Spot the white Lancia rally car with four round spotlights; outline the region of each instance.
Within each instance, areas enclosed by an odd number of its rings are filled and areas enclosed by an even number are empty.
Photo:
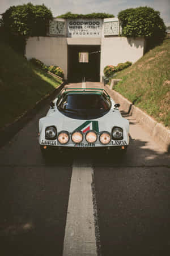
[[[104,89],[65,88],[39,120],[39,144],[48,148],[118,148],[129,145],[129,121]]]

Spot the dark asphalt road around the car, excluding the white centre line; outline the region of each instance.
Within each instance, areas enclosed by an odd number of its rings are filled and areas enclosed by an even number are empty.
[[[38,120],[47,110],[44,106],[0,149],[0,255],[62,255],[77,159],[94,169],[99,254],[169,255],[170,158],[164,150],[122,110],[131,135],[123,159],[79,150],[59,157],[54,153],[44,161],[37,133]]]

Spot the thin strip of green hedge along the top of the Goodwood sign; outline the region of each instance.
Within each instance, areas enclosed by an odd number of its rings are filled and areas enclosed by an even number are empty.
[[[57,16],[57,18],[63,18],[63,19],[105,19],[105,18],[114,18],[113,14],[106,14],[103,12],[93,12],[91,14],[73,14],[70,11],[66,14],[62,14]]]

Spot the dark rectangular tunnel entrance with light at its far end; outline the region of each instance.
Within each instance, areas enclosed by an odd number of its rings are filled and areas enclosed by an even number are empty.
[[[68,81],[100,81],[100,45],[68,45]]]

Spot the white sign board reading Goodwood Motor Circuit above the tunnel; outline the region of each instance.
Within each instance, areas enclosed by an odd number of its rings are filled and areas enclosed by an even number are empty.
[[[67,37],[101,37],[102,19],[68,19]]]

